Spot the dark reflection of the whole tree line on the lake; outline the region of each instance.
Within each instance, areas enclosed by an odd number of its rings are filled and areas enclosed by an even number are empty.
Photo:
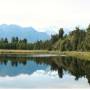
[[[90,84],[90,61],[74,57],[1,57],[0,65],[8,65],[10,62],[12,67],[17,68],[20,64],[26,66],[31,61],[38,65],[49,65],[52,71],[58,72],[60,78],[63,78],[64,72],[67,71],[75,76],[75,80],[85,77]]]

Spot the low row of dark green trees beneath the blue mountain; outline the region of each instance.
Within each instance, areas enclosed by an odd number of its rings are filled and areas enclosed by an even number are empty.
[[[10,40],[7,38],[0,39],[0,49],[16,49],[16,50],[40,50],[48,49],[49,40],[37,41],[35,43],[30,43],[27,39],[19,39],[18,37],[13,37]]]

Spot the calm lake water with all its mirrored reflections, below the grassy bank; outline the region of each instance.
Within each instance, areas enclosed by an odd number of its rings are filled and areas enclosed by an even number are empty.
[[[90,88],[90,61],[0,56],[0,88]]]

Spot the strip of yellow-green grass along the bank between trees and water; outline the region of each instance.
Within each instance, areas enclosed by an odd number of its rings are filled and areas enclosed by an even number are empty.
[[[58,54],[77,57],[80,59],[90,60],[90,52],[77,52],[77,51],[48,51],[48,50],[0,50],[0,55],[3,54]]]

